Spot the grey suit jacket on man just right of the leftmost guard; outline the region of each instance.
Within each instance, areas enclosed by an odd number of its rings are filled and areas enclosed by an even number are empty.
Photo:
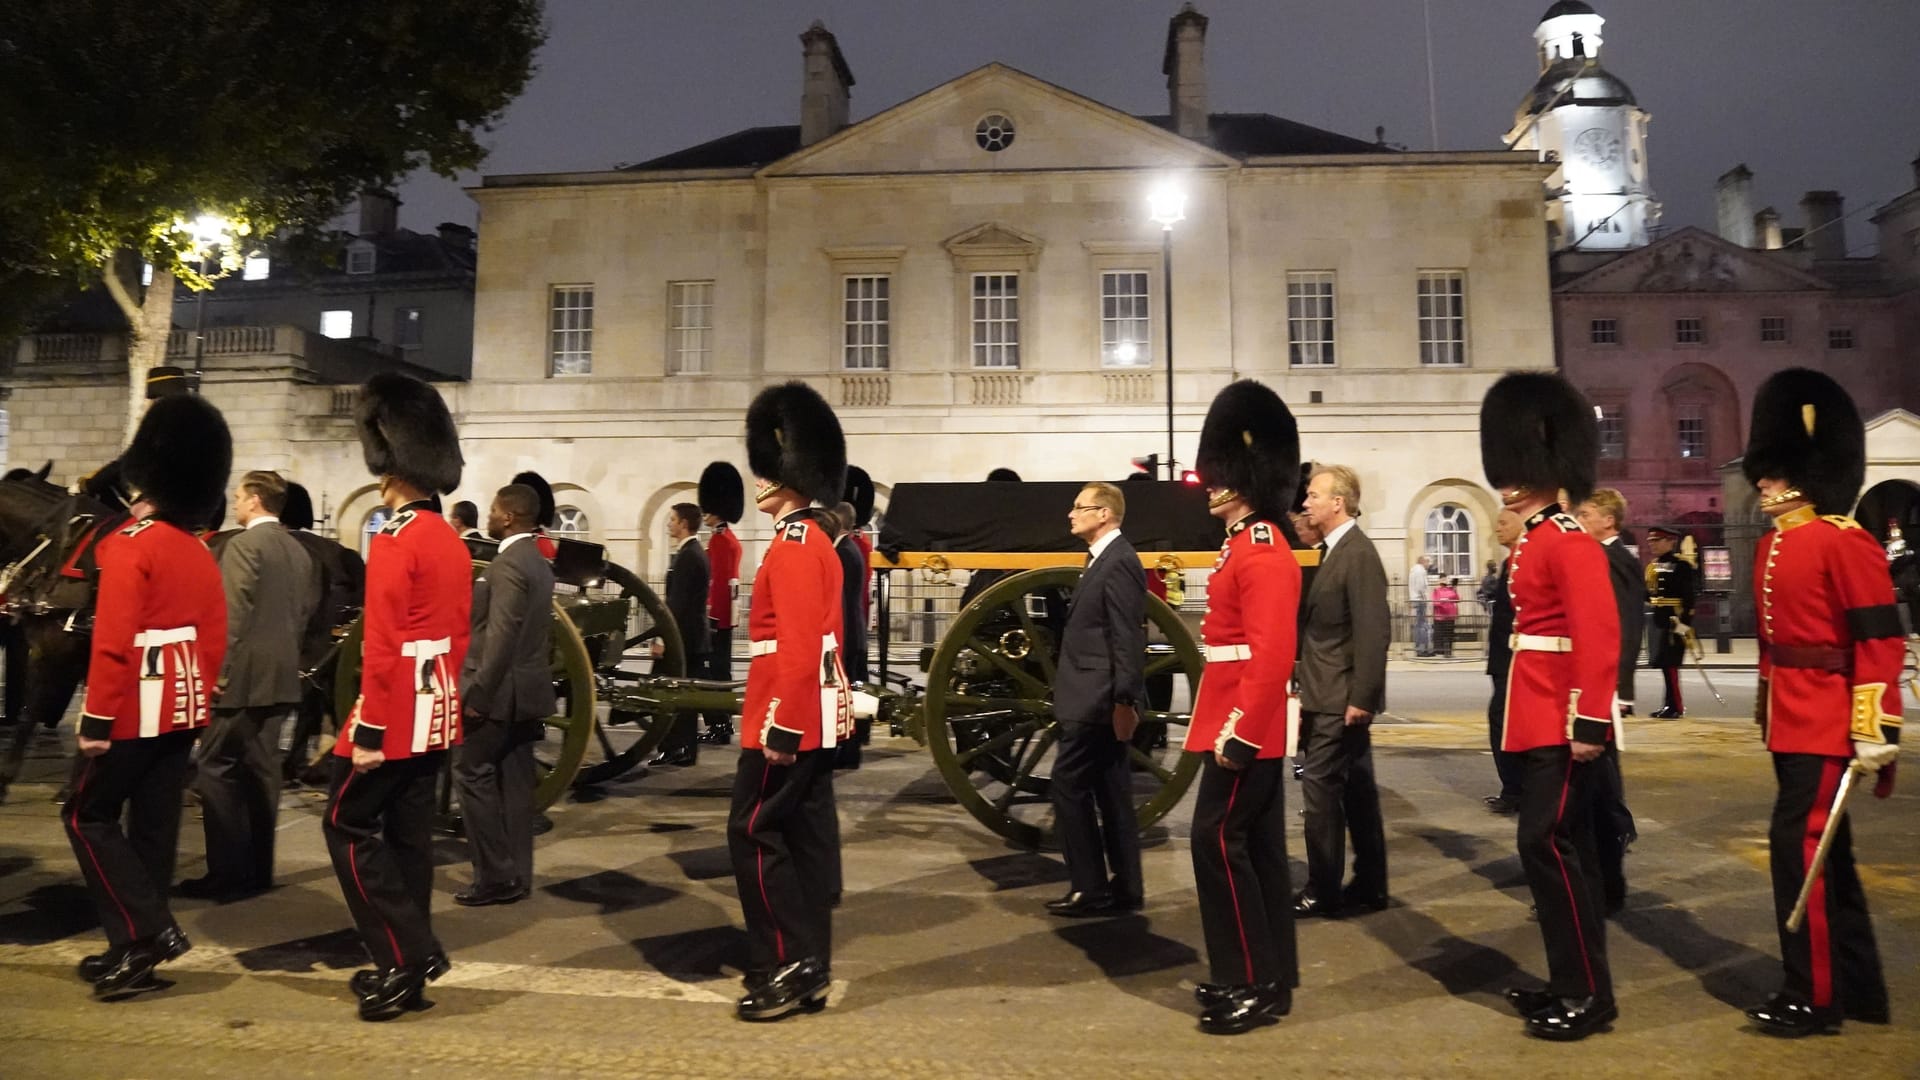
[[[319,571],[278,521],[242,528],[221,552],[227,667],[221,709],[300,701],[300,651],[319,603]]]

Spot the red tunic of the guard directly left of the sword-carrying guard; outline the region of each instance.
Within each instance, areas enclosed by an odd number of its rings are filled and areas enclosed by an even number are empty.
[[[1607,552],[1548,505],[1526,519],[1507,565],[1515,644],[1501,749],[1607,742],[1620,665]]]

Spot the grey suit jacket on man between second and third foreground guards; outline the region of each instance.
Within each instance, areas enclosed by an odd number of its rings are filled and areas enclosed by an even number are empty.
[[[472,640],[461,701],[484,721],[553,715],[553,565],[532,538],[516,540],[474,580]]]

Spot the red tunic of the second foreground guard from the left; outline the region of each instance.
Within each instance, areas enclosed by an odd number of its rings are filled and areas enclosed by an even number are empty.
[[[461,742],[461,663],[472,634],[472,559],[430,503],[417,502],[367,546],[361,694],[334,753],[401,759]]]

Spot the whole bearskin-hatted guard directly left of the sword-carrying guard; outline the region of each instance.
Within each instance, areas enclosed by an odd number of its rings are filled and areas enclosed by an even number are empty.
[[[1517,842],[1548,951],[1546,990],[1507,999],[1528,1034],[1557,1042],[1619,1015],[1588,815],[1594,763],[1613,738],[1620,613],[1607,553],[1557,502],[1561,490],[1586,502],[1597,452],[1594,407],[1557,375],[1507,375],[1480,404],[1480,465],[1524,523],[1507,563],[1513,661],[1500,748],[1521,755]]]

